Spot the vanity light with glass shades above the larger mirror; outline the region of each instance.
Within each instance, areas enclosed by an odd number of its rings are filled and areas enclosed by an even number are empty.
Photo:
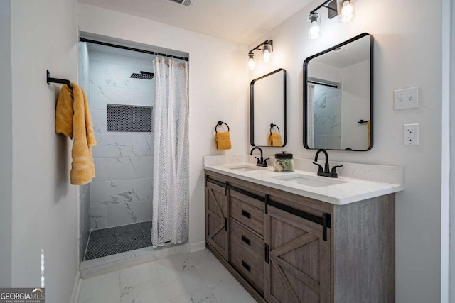
[[[321,37],[321,17],[316,12],[325,7],[328,9],[328,18],[338,15],[338,21],[346,23],[355,18],[355,0],[327,0],[310,12],[308,17],[308,38],[317,39]]]

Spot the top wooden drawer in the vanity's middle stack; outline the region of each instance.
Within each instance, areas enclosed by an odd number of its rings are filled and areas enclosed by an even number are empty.
[[[264,235],[264,203],[238,192],[230,192],[230,216]]]

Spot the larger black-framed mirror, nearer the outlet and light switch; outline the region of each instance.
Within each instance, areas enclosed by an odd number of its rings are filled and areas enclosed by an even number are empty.
[[[373,147],[373,35],[362,33],[304,62],[304,148]]]

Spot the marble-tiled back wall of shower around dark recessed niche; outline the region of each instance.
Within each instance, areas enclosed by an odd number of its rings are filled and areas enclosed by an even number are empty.
[[[141,70],[153,71],[152,60],[90,52],[89,103],[97,138],[92,229],[151,220],[153,133],[107,131],[107,104],[154,105],[154,79],[130,78]]]

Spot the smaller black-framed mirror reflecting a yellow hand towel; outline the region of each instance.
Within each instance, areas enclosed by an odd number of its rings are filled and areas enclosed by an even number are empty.
[[[280,68],[250,84],[250,143],[286,145],[286,70]]]

